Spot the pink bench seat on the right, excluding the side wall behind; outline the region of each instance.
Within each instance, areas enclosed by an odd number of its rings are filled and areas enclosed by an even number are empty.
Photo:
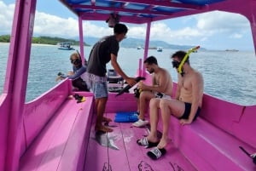
[[[172,141],[198,170],[255,170],[253,160],[239,146],[251,152],[255,149],[233,135],[200,117],[186,126],[181,126],[173,117],[171,122]]]

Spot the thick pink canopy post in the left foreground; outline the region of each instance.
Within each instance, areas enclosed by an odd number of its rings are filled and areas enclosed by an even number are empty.
[[[4,113],[9,117],[5,171],[16,171],[20,161],[22,118],[32,46],[32,32],[37,0],[15,3],[15,15],[9,45],[9,59],[4,83],[6,103],[11,105]]]

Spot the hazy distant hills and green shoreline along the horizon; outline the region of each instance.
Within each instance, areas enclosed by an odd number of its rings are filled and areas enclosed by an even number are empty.
[[[0,36],[0,42],[9,43],[9,38],[10,38],[9,35]],[[99,40],[99,38],[97,38],[97,37],[84,37],[84,46],[92,46],[98,40]],[[69,38],[69,39],[61,38],[61,37],[32,37],[32,43],[56,45],[57,43],[63,43],[63,42],[70,42],[70,43],[73,43],[73,45],[79,45],[79,37],[73,37],[73,38]],[[120,43],[120,47],[124,47],[124,48],[142,47],[143,48],[144,43],[145,43],[145,40],[143,40],[143,39],[128,37]],[[195,46],[175,45],[175,44],[166,43],[164,41],[150,41],[149,42],[149,48],[161,47],[161,48],[187,50],[189,48],[194,48]]]

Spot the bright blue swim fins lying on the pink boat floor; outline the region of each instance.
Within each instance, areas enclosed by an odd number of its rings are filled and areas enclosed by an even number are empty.
[[[137,112],[117,112],[114,117],[115,123],[134,123],[137,122]]]

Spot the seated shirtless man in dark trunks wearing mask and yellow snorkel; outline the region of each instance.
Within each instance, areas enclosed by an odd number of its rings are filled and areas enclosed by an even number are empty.
[[[177,51],[172,54],[172,66],[178,68],[186,52]],[[189,58],[182,66],[182,73],[178,74],[177,92],[175,100],[152,99],[150,100],[150,125],[151,131],[142,140],[137,140],[138,145],[155,145],[152,151],[148,151],[148,157],[158,159],[165,155],[165,147],[168,144],[169,121],[171,114],[179,119],[180,124],[185,125],[195,121],[198,117],[203,97],[204,81],[201,73],[195,71],[189,65]],[[160,141],[157,138],[158,111],[161,111],[163,121],[163,134]]]

